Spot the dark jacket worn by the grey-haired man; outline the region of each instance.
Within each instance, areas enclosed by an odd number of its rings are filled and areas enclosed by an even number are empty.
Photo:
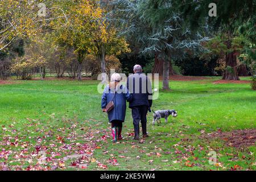
[[[150,79],[143,73],[134,73],[127,78],[127,88],[133,95],[133,101],[129,102],[129,107],[146,105],[152,106],[152,86]]]

